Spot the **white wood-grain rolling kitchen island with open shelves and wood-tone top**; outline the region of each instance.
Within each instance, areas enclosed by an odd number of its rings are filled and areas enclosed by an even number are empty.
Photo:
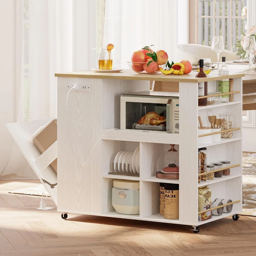
[[[119,73],[81,71],[56,74],[58,77],[58,206],[57,211],[113,218],[135,219],[164,223],[199,226],[242,211],[242,77],[244,73],[219,76],[210,73],[206,78],[196,78],[191,72],[183,76],[162,74],[137,74],[132,70]],[[218,80],[233,79],[234,101],[198,106],[198,83],[208,82],[208,90],[216,89]],[[121,131],[121,94],[150,91],[150,81],[164,81],[168,91],[173,82],[179,83],[179,134],[159,132]],[[71,91],[67,106],[67,84],[90,83],[89,93]],[[175,84],[176,86],[176,84]],[[240,91],[240,92],[239,92]],[[207,112],[213,115],[233,113],[232,127],[241,127],[233,137],[211,144],[198,144],[198,116],[204,126],[209,126]],[[123,110],[122,110],[123,111]],[[93,120],[89,122],[88,120]],[[68,139],[67,121],[70,140]],[[100,140],[87,165],[95,145]],[[156,163],[166,151],[166,144],[176,144],[179,161],[179,180],[158,179]],[[112,175],[112,163],[119,151],[133,151],[140,146],[140,177]],[[209,163],[230,160],[240,164],[231,175],[198,184],[198,148],[207,147]],[[76,158],[72,153],[72,149]],[[225,158],[225,159],[223,159]],[[233,173],[232,173],[233,171]],[[140,215],[124,215],[112,206],[113,180],[140,181]],[[159,214],[159,183],[179,184],[179,219],[169,220]],[[212,201],[216,198],[240,200],[232,212],[198,222],[198,187],[209,185]],[[75,188],[75,189],[74,189]],[[95,188],[101,193],[95,193]]]

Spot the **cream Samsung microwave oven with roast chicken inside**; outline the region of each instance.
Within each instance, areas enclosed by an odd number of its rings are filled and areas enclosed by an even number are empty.
[[[179,133],[179,93],[143,91],[121,94],[120,129]]]

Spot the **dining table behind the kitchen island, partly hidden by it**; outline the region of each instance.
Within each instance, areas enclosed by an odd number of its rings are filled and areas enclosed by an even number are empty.
[[[212,66],[216,66],[216,63],[212,63]],[[221,62],[220,62],[221,65]],[[243,80],[243,110],[256,110],[256,72],[248,71],[248,63],[234,63],[232,61],[227,61],[226,65],[229,70],[234,73],[245,73],[242,77]],[[251,65],[251,68],[255,68],[255,65]],[[192,70],[191,72],[197,73],[197,70]],[[212,72],[218,72],[217,69],[213,69]],[[211,76],[211,73],[209,76]],[[221,77],[221,76],[220,76]],[[152,91],[170,91],[178,92],[179,83],[178,82],[168,82],[168,81],[155,81],[151,84]]]

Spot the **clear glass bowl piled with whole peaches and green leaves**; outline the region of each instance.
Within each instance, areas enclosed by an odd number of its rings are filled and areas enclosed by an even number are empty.
[[[151,48],[144,47],[135,51],[131,56],[131,61],[127,61],[128,66],[139,74],[155,74],[160,72],[160,68],[166,65],[168,55],[164,50],[153,52]]]

